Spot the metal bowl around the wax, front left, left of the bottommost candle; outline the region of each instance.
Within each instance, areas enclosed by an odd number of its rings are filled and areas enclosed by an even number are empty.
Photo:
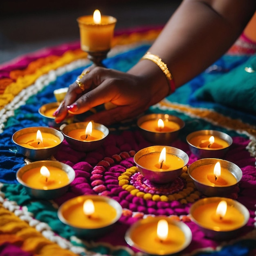
[[[68,209],[72,208],[72,206],[81,204],[85,202],[85,200],[87,199],[92,199],[94,202],[104,201],[115,208],[117,215],[112,220],[110,225],[99,227],[99,228],[84,228],[84,227],[76,227],[66,220],[65,212],[68,211]],[[61,222],[68,225],[78,237],[90,238],[90,239],[98,238],[108,233],[111,230],[112,226],[115,224],[115,222],[119,220],[119,218],[121,217],[121,214],[122,214],[122,207],[119,204],[119,202],[103,195],[81,195],[81,196],[72,198],[70,200],[67,200],[58,209],[58,218],[61,220]]]

